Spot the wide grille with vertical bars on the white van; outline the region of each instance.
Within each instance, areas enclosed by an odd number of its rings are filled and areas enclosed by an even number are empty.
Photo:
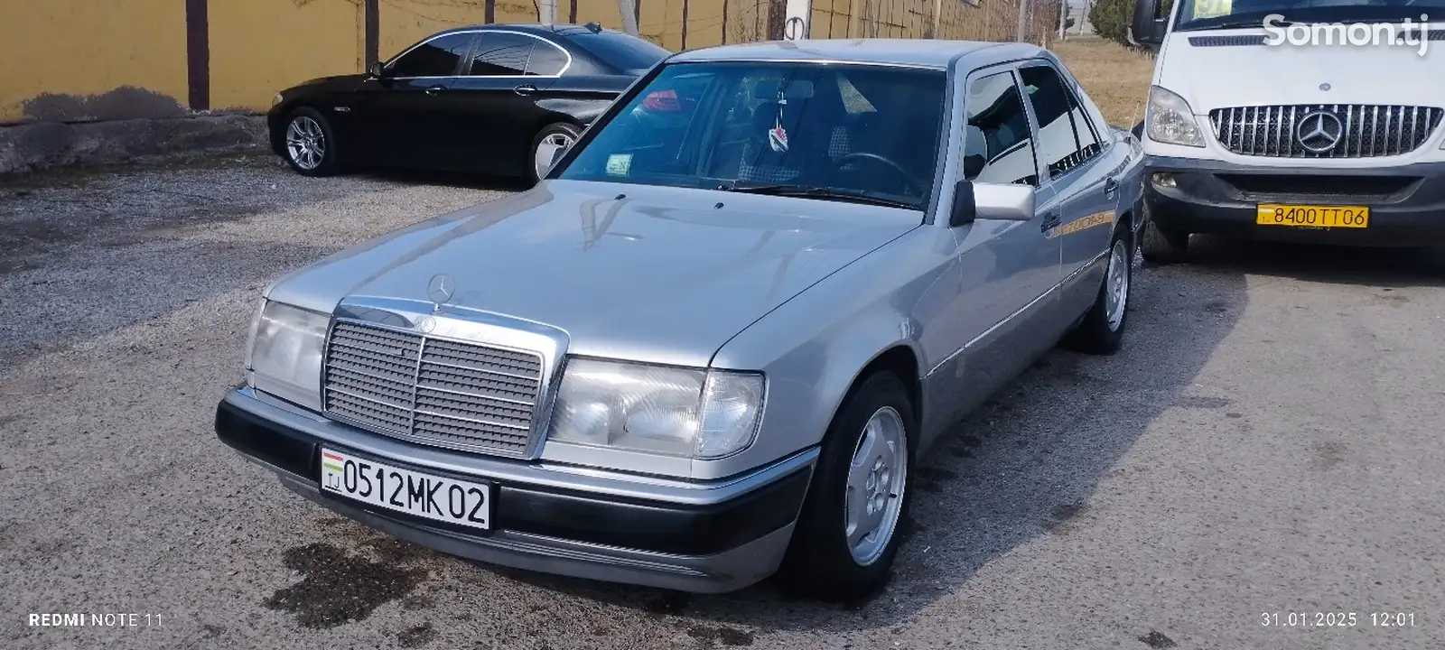
[[[1332,147],[1318,150],[1319,142],[1312,142],[1316,149],[1312,150],[1300,142],[1299,130],[1305,117],[1321,111],[1338,120],[1340,134]],[[1220,144],[1244,156],[1377,157],[1419,149],[1435,133],[1442,116],[1445,110],[1423,105],[1246,105],[1215,108],[1209,111],[1209,123]]]

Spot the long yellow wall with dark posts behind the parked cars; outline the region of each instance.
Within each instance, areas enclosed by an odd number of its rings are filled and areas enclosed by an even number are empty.
[[[538,22],[538,1],[0,0],[0,124],[263,111],[288,85],[360,72],[442,29]],[[809,36],[928,38],[935,9],[938,38],[1016,36],[1019,0],[936,1],[812,0]],[[1042,35],[1053,23],[1033,1]],[[559,23],[623,26],[616,0],[555,3]],[[783,0],[634,3],[642,36],[673,51],[780,36],[786,19]]]

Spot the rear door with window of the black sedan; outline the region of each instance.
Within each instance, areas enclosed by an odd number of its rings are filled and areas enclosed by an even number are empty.
[[[523,175],[532,163],[536,131],[546,126],[548,92],[571,61],[546,39],[523,32],[486,30],[452,85],[445,117],[455,166],[484,173]]]

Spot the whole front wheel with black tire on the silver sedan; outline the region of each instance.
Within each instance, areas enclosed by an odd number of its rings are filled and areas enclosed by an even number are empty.
[[[912,500],[916,441],[912,402],[896,374],[873,373],[848,393],[824,436],[808,495],[777,572],[785,592],[851,602],[887,584]],[[858,458],[860,465],[854,469]],[[866,495],[867,501],[854,495]],[[879,506],[871,508],[874,504]],[[850,506],[860,510],[850,516]],[[857,545],[851,542],[850,527],[863,530],[874,513],[879,514],[871,533]],[[854,517],[861,517],[864,524],[858,526]],[[851,526],[850,519],[854,520]]]

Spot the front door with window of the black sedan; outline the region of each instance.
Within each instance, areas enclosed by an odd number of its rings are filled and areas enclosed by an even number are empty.
[[[387,64],[381,78],[367,79],[351,107],[355,129],[340,147],[354,147],[371,165],[438,166],[445,126],[436,116],[471,40],[470,32],[435,36]]]

